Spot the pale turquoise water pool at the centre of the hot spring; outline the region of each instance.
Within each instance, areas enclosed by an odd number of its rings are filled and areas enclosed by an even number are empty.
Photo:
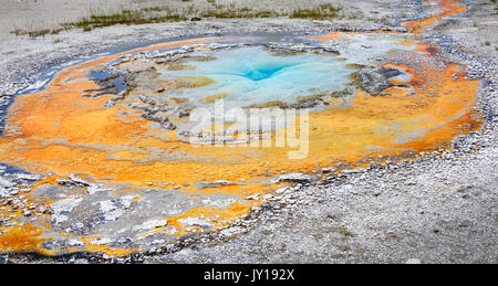
[[[297,54],[278,56],[263,47],[250,46],[235,50],[203,51],[195,55],[211,55],[209,62],[189,61],[194,71],[160,71],[164,80],[180,76],[207,76],[216,84],[166,92],[166,96],[188,97],[190,103],[228,93],[227,107],[242,107],[271,100],[294,103],[299,96],[331,93],[345,87],[354,72],[333,54]]]

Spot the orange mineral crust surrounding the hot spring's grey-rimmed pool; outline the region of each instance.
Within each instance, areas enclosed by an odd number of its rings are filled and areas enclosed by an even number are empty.
[[[409,31],[419,32],[439,18],[465,11],[457,1],[432,2],[438,4],[442,13],[405,23]],[[314,38],[325,42],[343,39],[341,33]],[[373,156],[434,150],[468,130],[465,126],[478,126],[473,106],[480,83],[466,80],[465,70],[452,63],[444,67],[432,66],[430,62],[386,64],[384,66],[404,71],[409,80],[391,80],[397,86],[386,89],[382,96],[357,91],[350,105],[338,104],[340,98],[331,99],[333,107],[309,116],[309,152],[303,159],[290,159],[289,151],[294,149],[274,144],[271,147],[195,146],[179,140],[176,131],[154,127],[141,116],[143,112],[120,105],[105,107],[113,95],[84,96],[85,91],[97,88],[97,84],[89,80],[90,72],[122,55],[219,40],[156,44],[64,68],[44,91],[21,95],[10,106],[0,137],[0,161],[48,174],[48,183],[53,186],[56,186],[56,179],[79,173],[96,182],[126,184],[122,192],[151,186],[170,190],[175,186],[175,190],[186,197],[262,197],[283,184],[271,181],[280,173],[320,171],[338,161],[354,165]],[[243,38],[222,40],[243,41]],[[406,40],[402,44],[413,43]],[[435,52],[426,44],[416,44],[422,47],[415,53],[430,56]],[[404,86],[400,86],[402,84]],[[299,134],[303,133],[301,128],[298,125]],[[274,134],[269,136],[274,140]],[[196,187],[197,182],[220,180],[238,183]],[[133,200],[141,201],[142,197],[135,195]],[[168,231],[176,236],[201,232],[200,227],[185,226],[188,218],[200,216],[214,223],[211,231],[221,230],[260,203],[261,199],[239,199],[225,208],[195,206],[185,213],[163,218],[165,222],[152,227],[144,236]],[[41,226],[29,224],[0,226],[0,250],[50,254],[39,246],[46,241],[43,231]],[[114,256],[138,251],[97,245],[93,243],[95,239],[81,239],[85,251]]]

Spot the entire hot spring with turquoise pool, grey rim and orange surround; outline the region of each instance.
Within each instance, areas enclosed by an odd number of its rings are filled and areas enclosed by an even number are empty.
[[[6,116],[0,161],[30,213],[0,210],[23,223],[0,225],[0,251],[229,237],[297,183],[447,148],[479,127],[480,83],[411,27],[197,38],[59,68]]]

